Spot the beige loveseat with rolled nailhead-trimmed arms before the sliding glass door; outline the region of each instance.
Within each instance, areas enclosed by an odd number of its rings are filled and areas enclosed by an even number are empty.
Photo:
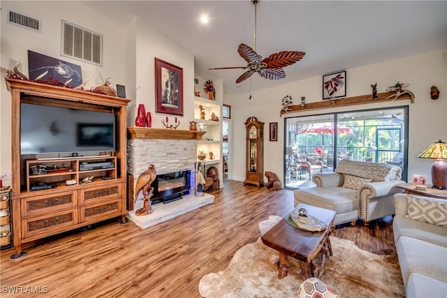
[[[334,210],[335,225],[355,223],[358,218],[367,225],[395,213],[393,195],[402,193],[396,186],[405,183],[401,178],[402,170],[395,165],[344,159],[335,172],[314,174],[316,187],[297,189],[294,204]]]

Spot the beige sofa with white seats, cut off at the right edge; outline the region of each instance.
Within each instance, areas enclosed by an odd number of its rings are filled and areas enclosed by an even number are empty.
[[[393,234],[406,297],[447,297],[447,201],[394,196]]]

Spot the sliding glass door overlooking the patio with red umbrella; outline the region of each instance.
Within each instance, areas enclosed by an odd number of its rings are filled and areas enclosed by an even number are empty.
[[[342,159],[390,163],[406,177],[408,107],[284,119],[284,186],[309,185]]]

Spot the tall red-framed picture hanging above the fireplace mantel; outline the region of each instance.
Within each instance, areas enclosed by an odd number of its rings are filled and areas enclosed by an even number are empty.
[[[183,68],[155,58],[155,112],[183,116]]]

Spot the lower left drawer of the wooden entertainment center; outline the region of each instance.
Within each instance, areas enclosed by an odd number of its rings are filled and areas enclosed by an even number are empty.
[[[28,238],[34,235],[57,234],[70,230],[73,225],[78,224],[78,209],[54,212],[46,216],[34,216],[22,219],[22,237]]]

